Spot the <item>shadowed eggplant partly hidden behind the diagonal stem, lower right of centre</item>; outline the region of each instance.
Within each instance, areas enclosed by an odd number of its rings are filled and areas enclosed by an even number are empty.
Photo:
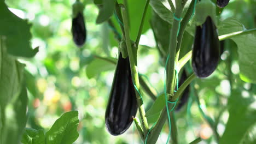
[[[188,76],[185,72],[185,70],[183,70],[181,79],[179,79],[179,87],[181,87],[181,85],[185,82],[185,80],[188,79]],[[189,86],[187,88],[185,88],[185,90],[183,91],[183,94],[180,96],[181,98],[179,98],[179,101],[176,105],[176,109],[175,111],[178,112],[179,110],[181,110],[181,108],[187,103],[188,98],[189,98]]]

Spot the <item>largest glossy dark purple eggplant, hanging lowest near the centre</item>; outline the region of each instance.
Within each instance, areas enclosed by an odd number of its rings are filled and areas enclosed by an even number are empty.
[[[120,53],[105,113],[105,124],[109,133],[123,134],[130,127],[137,109],[129,57],[123,58]]]

